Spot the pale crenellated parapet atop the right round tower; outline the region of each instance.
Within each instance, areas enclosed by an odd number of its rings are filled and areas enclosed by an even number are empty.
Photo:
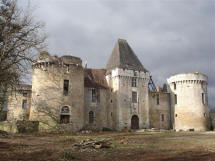
[[[208,82],[208,77],[202,73],[180,73],[167,79],[168,84],[177,82]]]

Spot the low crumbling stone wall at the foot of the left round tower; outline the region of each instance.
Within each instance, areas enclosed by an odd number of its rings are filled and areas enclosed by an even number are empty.
[[[3,121],[0,122],[0,130],[9,133],[33,133],[38,132],[38,121]]]

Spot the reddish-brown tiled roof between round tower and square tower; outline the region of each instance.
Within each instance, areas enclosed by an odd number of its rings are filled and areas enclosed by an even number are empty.
[[[84,69],[84,87],[108,88],[105,69]]]

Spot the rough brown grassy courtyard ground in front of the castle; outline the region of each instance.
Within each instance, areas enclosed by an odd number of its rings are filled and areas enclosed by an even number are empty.
[[[91,146],[91,143],[103,144]],[[0,161],[12,160],[213,161],[215,132],[136,131],[0,135]]]

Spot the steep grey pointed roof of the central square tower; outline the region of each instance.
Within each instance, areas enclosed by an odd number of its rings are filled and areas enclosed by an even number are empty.
[[[123,68],[147,72],[126,40],[118,39],[106,64],[106,69]]]

